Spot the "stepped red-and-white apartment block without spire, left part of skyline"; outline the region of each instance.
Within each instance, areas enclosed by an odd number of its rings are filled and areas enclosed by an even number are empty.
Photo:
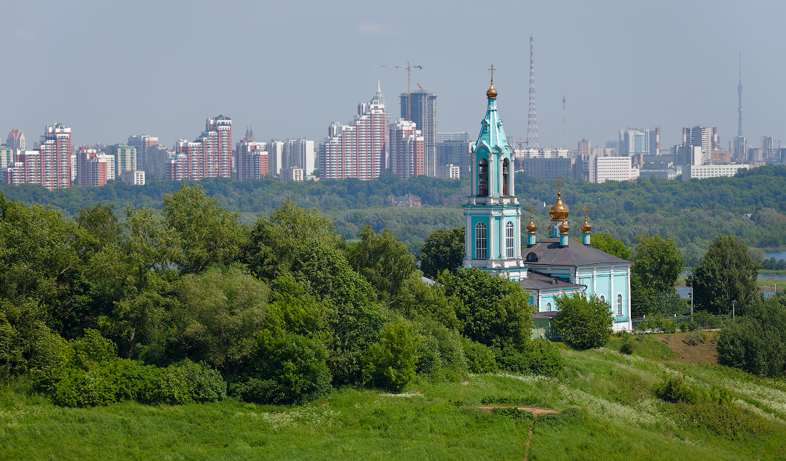
[[[232,177],[232,119],[224,115],[209,118],[195,141],[180,139],[174,151],[165,174],[171,181]]]

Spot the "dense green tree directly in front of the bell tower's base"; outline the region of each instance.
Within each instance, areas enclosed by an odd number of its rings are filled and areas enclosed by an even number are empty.
[[[443,272],[439,283],[454,299],[462,335],[500,348],[522,348],[529,341],[533,308],[516,282],[473,268]]]

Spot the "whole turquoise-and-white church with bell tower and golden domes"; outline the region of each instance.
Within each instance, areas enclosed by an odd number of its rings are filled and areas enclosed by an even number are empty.
[[[530,295],[535,306],[536,327],[556,316],[554,298],[581,293],[597,295],[608,303],[614,331],[631,331],[630,261],[590,246],[592,225],[580,226],[582,240],[571,241],[569,210],[562,201],[557,181],[557,199],[549,209],[549,234],[537,239],[533,217],[526,226],[527,241],[521,242],[521,204],[513,181],[513,149],[505,137],[497,112],[494,66],[486,92],[486,117],[478,140],[472,145],[471,192],[462,208],[465,218],[465,268],[477,268],[515,280]]]

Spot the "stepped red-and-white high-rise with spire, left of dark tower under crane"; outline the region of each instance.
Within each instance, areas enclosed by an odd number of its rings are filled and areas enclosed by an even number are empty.
[[[328,127],[328,137],[320,145],[319,170],[323,179],[357,177],[368,180],[380,176],[385,165],[387,112],[380,87],[368,103],[358,104],[358,115],[347,125]]]

